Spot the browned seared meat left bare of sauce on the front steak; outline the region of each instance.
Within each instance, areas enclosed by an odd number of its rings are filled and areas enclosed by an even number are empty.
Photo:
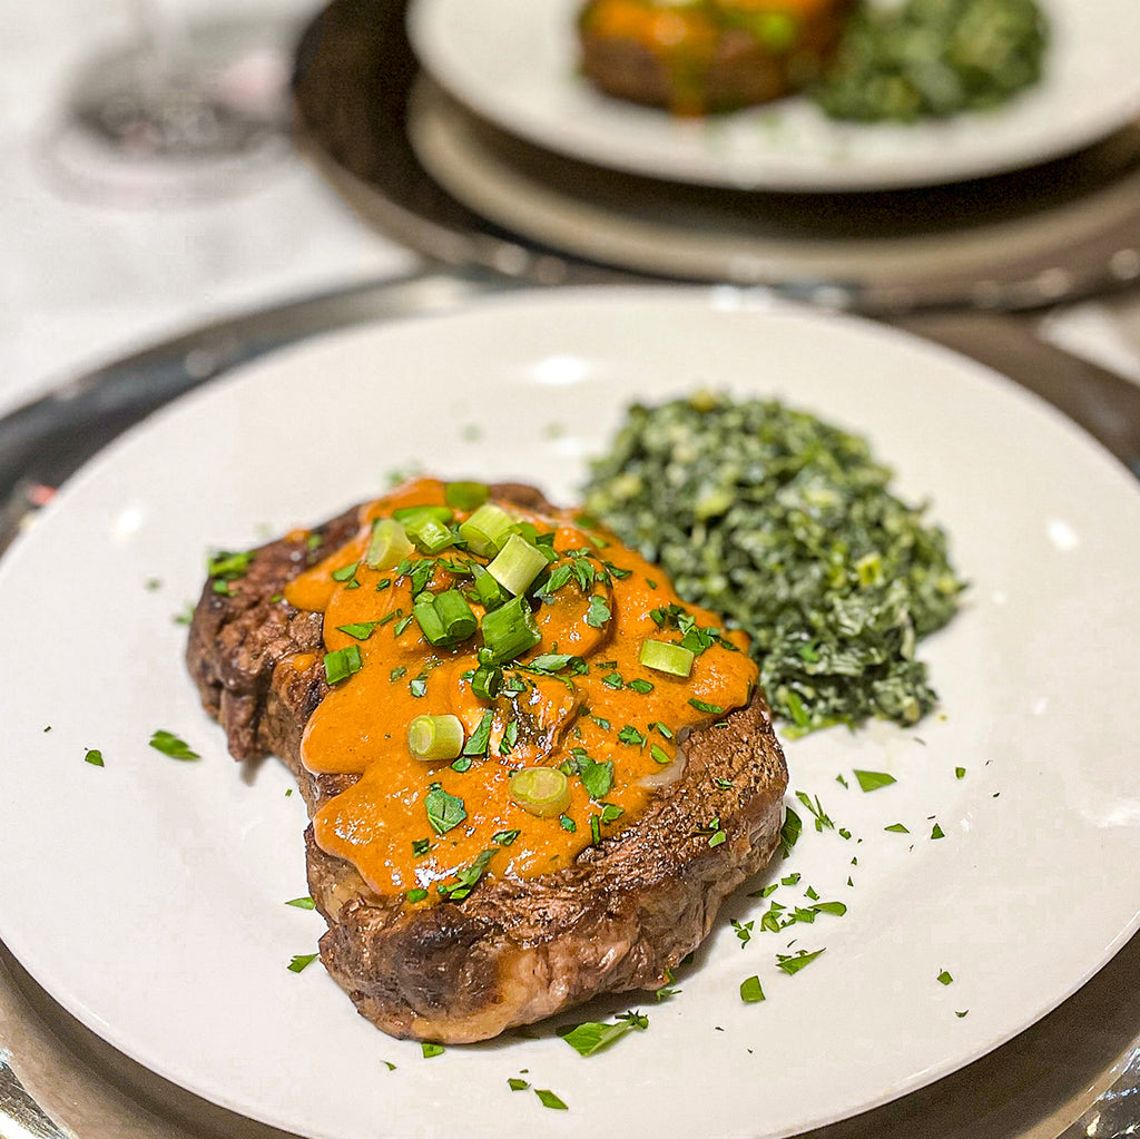
[[[499,498],[543,506],[530,488]],[[355,775],[301,760],[306,724],[329,692],[321,615],[282,603],[285,585],[348,542],[359,509],[255,551],[241,577],[203,589],[186,660],[237,759],[278,756],[310,816]],[[780,841],[787,771],[757,693],[678,737],[679,758],[648,809],[538,877],[486,876],[459,901],[382,896],[306,832],[311,896],[328,929],[320,957],[358,1010],[401,1038],[469,1042],[601,993],[656,989],[709,933],[722,902]]]

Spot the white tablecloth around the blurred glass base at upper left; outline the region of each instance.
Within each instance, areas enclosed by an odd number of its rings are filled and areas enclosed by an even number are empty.
[[[233,19],[155,0],[176,29]],[[284,101],[306,0],[241,5],[263,46],[244,82]],[[97,55],[145,27],[131,0],[0,5],[0,413],[78,373],[222,315],[397,272],[413,257],[358,222],[290,143],[235,187],[135,198],[78,184],[49,153]]]

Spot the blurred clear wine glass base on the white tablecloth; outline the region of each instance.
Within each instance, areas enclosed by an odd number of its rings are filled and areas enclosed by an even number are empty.
[[[132,38],[79,70],[44,140],[62,189],[117,205],[211,200],[292,153],[291,22],[129,3]]]

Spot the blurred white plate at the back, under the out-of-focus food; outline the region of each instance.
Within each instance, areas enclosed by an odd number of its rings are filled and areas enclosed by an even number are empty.
[[[1043,81],[991,114],[850,124],[806,99],[682,121],[595,91],[577,71],[581,0],[414,0],[427,70],[472,109],[552,150],[673,181],[748,189],[923,186],[1068,154],[1140,113],[1140,5],[1039,0],[1052,27]]]

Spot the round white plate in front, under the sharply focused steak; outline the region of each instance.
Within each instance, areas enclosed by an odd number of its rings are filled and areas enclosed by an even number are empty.
[[[757,924],[742,944],[730,918],[767,905],[742,892],[683,992],[630,1001],[650,1028],[611,1051],[583,1059],[544,1030],[424,1059],[319,965],[285,968],[323,926],[283,904],[307,893],[302,805],[278,764],[243,775],[227,758],[171,617],[209,547],[331,516],[410,461],[570,501],[628,400],[698,384],[865,432],[904,494],[930,496],[974,583],[926,651],[945,715],[788,748],[792,790],[853,837],[800,809],[804,838],[773,872],[801,882],[774,896],[811,885],[846,917],[779,936]],[[715,1139],[847,1116],[1032,1024],[1137,927],[1138,564],[1140,493],[1122,469],[1008,382],[876,325],[724,291],[581,291],[316,340],[114,445],[0,563],[0,937],[130,1056],[309,1136],[604,1121]],[[202,760],[149,748],[156,729]],[[864,795],[853,768],[898,782]],[[775,954],[793,936],[826,952],[790,977]],[[754,974],[767,1000],[746,1006]],[[523,1069],[569,1110],[512,1092]]]

